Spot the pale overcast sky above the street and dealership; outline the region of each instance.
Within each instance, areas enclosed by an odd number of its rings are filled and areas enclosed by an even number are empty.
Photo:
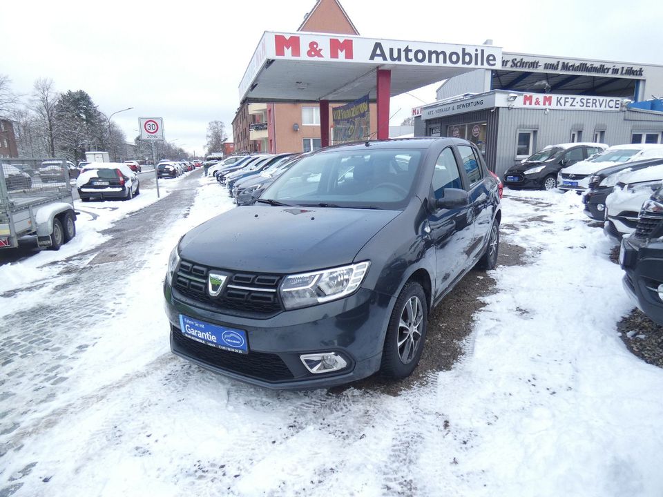
[[[231,121],[238,84],[262,32],[295,31],[315,0],[7,1],[0,74],[27,94],[39,77],[85,90],[131,140],[140,116],[162,116],[166,139],[201,153],[209,121]],[[663,1],[342,0],[363,36],[481,44],[505,51],[663,65]],[[413,95],[433,101],[436,85]],[[421,101],[392,99],[391,124]]]

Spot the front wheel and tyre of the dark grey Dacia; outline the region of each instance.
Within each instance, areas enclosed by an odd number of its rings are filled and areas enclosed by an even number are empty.
[[[428,305],[423,288],[417,282],[407,282],[387,326],[380,376],[402,380],[412,374],[421,358],[427,326]]]

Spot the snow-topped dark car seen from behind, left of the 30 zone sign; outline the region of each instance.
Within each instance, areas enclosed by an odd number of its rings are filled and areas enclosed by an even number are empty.
[[[76,180],[78,195],[83,202],[93,198],[133,199],[140,194],[138,175],[122,162],[92,162]]]

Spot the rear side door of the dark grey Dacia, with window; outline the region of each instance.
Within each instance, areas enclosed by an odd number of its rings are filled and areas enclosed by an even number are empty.
[[[457,150],[470,194],[470,217],[474,231],[468,257],[474,261],[481,255],[492,224],[490,185],[486,183],[486,168],[478,151],[470,145],[458,145]]]

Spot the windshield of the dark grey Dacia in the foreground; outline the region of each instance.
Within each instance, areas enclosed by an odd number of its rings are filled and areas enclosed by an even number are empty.
[[[421,150],[327,150],[300,159],[262,197],[287,205],[400,209],[419,162]]]

